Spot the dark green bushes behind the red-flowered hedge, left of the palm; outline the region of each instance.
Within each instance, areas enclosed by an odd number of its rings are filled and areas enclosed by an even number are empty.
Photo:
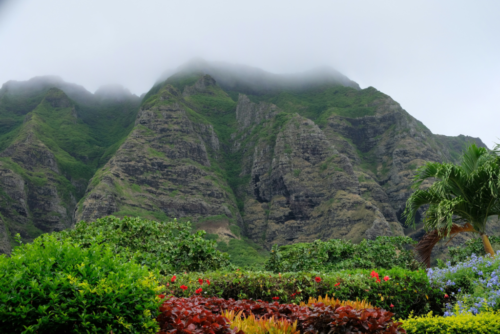
[[[363,239],[358,244],[349,240],[331,239],[323,242],[294,243],[272,246],[265,269],[285,271],[338,271],[341,269],[390,269],[398,266],[410,270],[423,268],[414,259],[412,245],[416,241],[408,236],[378,236]]]

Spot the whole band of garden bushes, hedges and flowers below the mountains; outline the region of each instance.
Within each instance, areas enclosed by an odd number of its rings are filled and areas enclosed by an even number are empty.
[[[188,222],[82,221],[0,258],[0,324],[7,333],[495,328],[497,314],[490,312],[500,309],[500,257],[471,254],[426,272],[415,266],[406,248],[411,244],[381,237],[359,245],[330,240],[274,247],[266,266],[278,269],[280,256],[287,263],[281,261],[286,271],[273,272],[235,267]],[[384,268],[377,256],[390,265]],[[298,265],[290,269],[294,260]]]

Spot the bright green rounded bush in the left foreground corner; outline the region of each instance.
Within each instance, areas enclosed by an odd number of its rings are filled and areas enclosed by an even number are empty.
[[[101,240],[43,234],[0,258],[2,333],[155,333],[158,282]]]

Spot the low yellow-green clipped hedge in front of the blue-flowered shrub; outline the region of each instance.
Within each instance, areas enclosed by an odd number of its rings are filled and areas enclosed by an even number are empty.
[[[492,334],[500,333],[500,312],[471,313],[454,316],[410,316],[402,322],[408,334]]]

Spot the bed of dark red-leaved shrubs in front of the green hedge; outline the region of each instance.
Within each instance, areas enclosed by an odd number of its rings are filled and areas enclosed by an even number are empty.
[[[202,332],[198,328],[201,321],[191,321],[189,316],[201,314],[202,318],[210,319],[207,326],[214,332],[222,333],[227,330],[226,317],[219,314],[239,314],[245,318],[269,319],[277,321],[287,321],[290,324],[296,321],[296,328],[300,332],[310,333],[405,333],[400,327],[400,322],[394,322],[391,317],[393,313],[384,309],[354,309],[350,306],[328,305],[323,303],[311,306],[299,306],[296,304],[279,304],[278,302],[268,303],[262,300],[234,300],[221,299],[216,297],[203,298],[193,296],[188,298],[170,297],[160,307],[162,312],[158,316],[160,327],[167,329],[174,334],[180,333],[179,329],[187,328],[191,332]],[[224,313],[225,312],[225,313]],[[220,317],[217,317],[220,316]],[[216,320],[218,319],[218,320]],[[197,320],[197,319],[196,319]],[[208,320],[207,320],[208,321]],[[213,324],[212,323],[217,323]],[[233,330],[236,326],[231,326]],[[287,327],[289,328],[289,327]],[[177,330],[177,331],[175,331]],[[160,331],[160,334],[166,333]],[[204,332],[208,332],[205,330]]]

